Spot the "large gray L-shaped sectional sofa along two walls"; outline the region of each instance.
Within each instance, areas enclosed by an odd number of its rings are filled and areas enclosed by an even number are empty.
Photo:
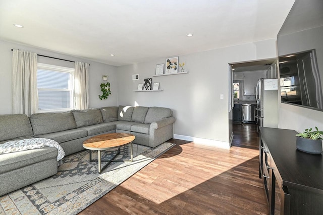
[[[175,118],[168,108],[112,106],[64,113],[0,115],[0,144],[27,138],[57,141],[66,155],[84,150],[83,141],[100,134],[130,133],[150,147],[173,138]],[[0,154],[0,196],[57,173],[58,149],[44,147]]]

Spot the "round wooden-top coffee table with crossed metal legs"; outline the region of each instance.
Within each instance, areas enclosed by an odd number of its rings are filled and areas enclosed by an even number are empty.
[[[132,141],[135,136],[126,133],[101,134],[91,137],[83,142],[83,147],[90,150],[90,161],[97,161],[98,171],[101,173],[111,162],[132,162]],[[130,144],[130,160],[115,160],[120,154],[120,147]],[[101,160],[101,150],[118,148],[118,153],[111,160]],[[97,159],[92,159],[92,150],[97,151]],[[101,169],[101,162],[108,162]]]

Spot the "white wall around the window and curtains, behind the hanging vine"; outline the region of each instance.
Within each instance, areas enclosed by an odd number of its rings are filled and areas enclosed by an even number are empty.
[[[44,56],[89,63],[89,108],[117,105],[118,74],[117,68],[115,66],[63,55],[62,53],[53,52],[41,48],[0,40],[0,114],[11,114],[12,48],[32,51]],[[55,60],[51,58],[38,57],[38,62],[74,68],[74,63],[72,62]],[[108,81],[111,83],[112,95],[110,95],[106,100],[99,100],[98,98],[98,95],[101,94],[99,85],[102,82],[102,75],[108,75]]]

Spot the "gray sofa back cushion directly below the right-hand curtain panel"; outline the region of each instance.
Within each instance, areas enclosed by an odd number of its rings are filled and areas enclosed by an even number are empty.
[[[103,122],[102,114],[99,109],[74,110],[72,113],[77,128]]]

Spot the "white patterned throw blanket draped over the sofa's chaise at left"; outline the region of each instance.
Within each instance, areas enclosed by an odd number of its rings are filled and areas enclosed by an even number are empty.
[[[13,140],[0,144],[0,154],[7,154],[16,151],[25,151],[34,148],[55,147],[59,150],[57,161],[65,156],[65,152],[58,142],[46,138],[32,138],[23,140]]]

